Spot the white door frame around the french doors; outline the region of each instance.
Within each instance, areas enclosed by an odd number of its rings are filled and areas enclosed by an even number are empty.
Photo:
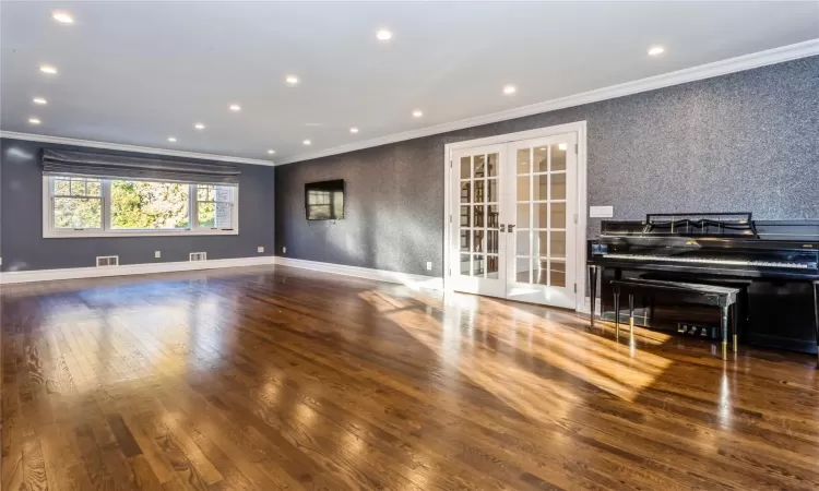
[[[499,143],[510,143],[521,140],[532,140],[543,136],[551,136],[561,133],[578,133],[578,223],[574,238],[574,248],[577,250],[575,274],[578,284],[578,295],[575,296],[574,310],[578,312],[587,312],[589,306],[585,296],[585,262],[586,262],[586,217],[589,213],[586,204],[586,122],[575,121],[555,127],[538,128],[535,130],[519,131],[517,133],[499,134],[485,139],[468,140],[464,142],[447,143],[443,145],[443,189],[446,196],[443,200],[443,291],[452,291],[452,282],[450,282],[450,250],[452,230],[452,200],[450,199],[452,187],[452,151],[470,148],[473,146],[495,145]],[[569,217],[567,217],[569,218]],[[573,218],[573,217],[572,217]],[[569,219],[572,219],[569,218]]]

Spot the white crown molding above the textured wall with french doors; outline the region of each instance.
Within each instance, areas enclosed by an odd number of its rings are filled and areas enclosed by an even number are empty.
[[[281,166],[302,160],[310,160],[319,157],[328,157],[330,155],[344,154],[357,149],[387,145],[389,143],[402,142],[423,136],[431,136],[434,134],[448,133],[450,131],[463,130],[465,128],[474,128],[482,124],[489,124],[499,121],[522,118],[525,116],[549,112],[557,109],[565,109],[567,107],[581,106],[583,104],[597,103],[606,99],[614,99],[617,97],[639,94],[641,92],[654,91],[657,88],[685,84],[688,82],[696,82],[699,80],[711,79],[720,75],[727,75],[729,73],[741,72],[745,70],[751,70],[769,64],[782,63],[785,61],[796,60],[799,58],[806,58],[816,55],[819,55],[819,38],[807,40],[804,43],[797,43],[795,45],[782,46],[780,48],[773,48],[765,51],[743,55],[736,58],[728,58],[726,60],[705,63],[698,67],[678,70],[676,72],[668,72],[661,75],[649,76],[645,79],[626,82],[618,85],[596,88],[594,91],[583,92],[580,94],[532,104],[529,106],[507,109],[499,112],[476,116],[473,118],[461,119],[458,121],[436,124],[427,128],[419,128],[417,130],[379,136],[377,139],[365,140],[347,145],[340,145],[322,151],[298,154],[293,157],[283,158],[282,160],[276,161],[275,165]]]

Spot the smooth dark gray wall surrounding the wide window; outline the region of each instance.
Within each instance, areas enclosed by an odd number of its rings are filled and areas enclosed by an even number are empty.
[[[143,155],[0,140],[0,256],[2,271],[94,266],[97,255],[119,255],[120,264],[188,261],[190,252],[207,252],[209,260],[272,255],[274,247],[274,169],[238,165],[239,235],[188,237],[43,238],[44,147],[83,149],[119,155]],[[163,158],[171,158],[165,157]],[[257,247],[263,246],[264,253]],[[162,251],[162,259],[154,259]]]

